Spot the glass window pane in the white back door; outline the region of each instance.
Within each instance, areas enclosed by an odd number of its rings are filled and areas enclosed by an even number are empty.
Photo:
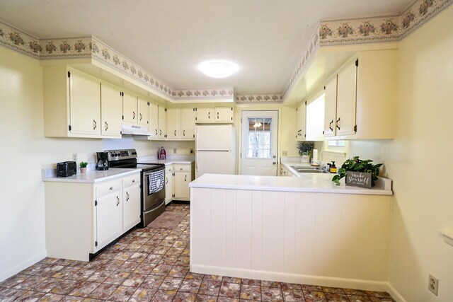
[[[272,118],[248,119],[247,158],[270,158],[271,124]]]

